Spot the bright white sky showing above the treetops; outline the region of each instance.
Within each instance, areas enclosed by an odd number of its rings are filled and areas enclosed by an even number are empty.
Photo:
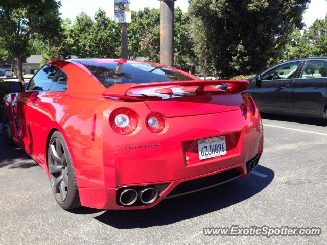
[[[107,16],[113,17],[113,0],[61,0],[60,12],[63,18],[75,20],[80,12],[90,16],[99,9],[106,11]],[[175,7],[179,6],[183,12],[188,11],[188,0],[177,0]],[[159,0],[131,0],[130,8],[140,10],[145,7],[159,8]],[[327,0],[311,0],[309,8],[303,15],[303,22],[309,27],[316,19],[324,19],[327,14]]]

